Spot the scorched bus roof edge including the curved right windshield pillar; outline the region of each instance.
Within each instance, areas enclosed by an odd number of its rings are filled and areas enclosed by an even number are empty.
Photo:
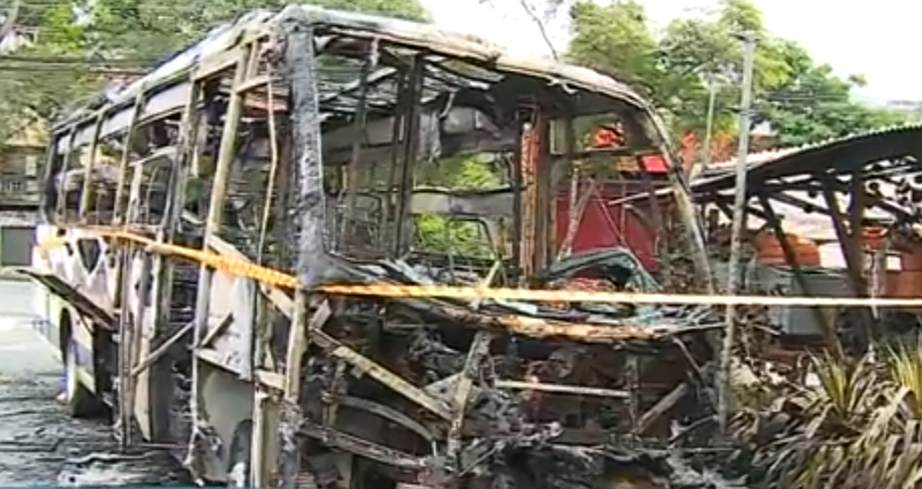
[[[650,101],[627,83],[599,72],[548,57],[518,55],[482,38],[440,29],[431,24],[316,5],[289,5],[278,13],[265,10],[249,12],[236,22],[217,27],[205,39],[126,88],[99,96],[95,104],[72,111],[69,116],[61,118],[52,128],[53,150],[49,157],[67,154],[94,139],[126,130],[135,118],[135,105],[140,104],[142,111],[139,116],[146,120],[184,106],[194,87],[192,78],[196,69],[227,59],[228,53],[242,42],[277,36],[281,43],[290,44],[299,33],[317,30],[324,35],[371,42],[384,41],[425,56],[450,57],[498,74],[543,80],[547,88],[564,94],[578,96],[582,92],[616,102],[630,113],[632,123],[638,124],[641,139],[645,140],[643,144],[663,154],[668,167],[668,180],[677,191],[679,215],[689,228],[690,252],[695,257],[699,280],[707,291],[714,289],[703,234],[683,168],[667,137],[666,127]]]

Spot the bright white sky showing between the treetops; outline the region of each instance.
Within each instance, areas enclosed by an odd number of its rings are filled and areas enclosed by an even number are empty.
[[[476,34],[514,51],[547,54],[534,23],[518,0],[423,0],[436,23]],[[683,11],[712,4],[708,0],[642,0],[654,22],[665,24]],[[836,73],[863,74],[865,98],[875,101],[922,100],[922,63],[911,56],[920,42],[922,2],[874,0],[755,0],[773,33],[806,47]],[[554,42],[566,42],[566,25],[553,25]]]

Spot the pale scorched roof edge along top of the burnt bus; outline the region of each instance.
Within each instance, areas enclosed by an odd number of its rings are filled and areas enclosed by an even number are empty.
[[[138,96],[146,95],[142,117],[156,116],[179,110],[185,104],[191,83],[188,74],[212,56],[232,49],[246,35],[269,34],[284,25],[323,26],[356,37],[371,37],[395,44],[415,48],[432,55],[445,55],[487,66],[500,73],[543,78],[549,85],[564,85],[617,99],[644,114],[655,126],[655,133],[663,134],[664,127],[653,105],[628,85],[596,70],[568,65],[541,56],[523,56],[476,36],[440,29],[422,24],[379,15],[328,10],[316,5],[289,5],[281,12],[257,10],[238,21],[213,29],[202,41],[162,63],[148,75],[114,93],[104,93],[95,103],[69,111],[55,121],[52,133],[69,132],[75,128],[74,145],[80,146],[93,138],[94,124],[104,117],[100,137],[117,133],[128,128],[132,105]],[[56,142],[60,153],[66,152],[68,141]],[[668,144],[654,141],[654,144]]]

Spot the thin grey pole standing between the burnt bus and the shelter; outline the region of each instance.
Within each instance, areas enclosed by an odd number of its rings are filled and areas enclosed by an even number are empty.
[[[740,100],[740,134],[737,151],[737,189],[733,198],[733,234],[730,237],[730,262],[728,263],[727,295],[734,296],[740,289],[740,255],[742,254],[743,230],[746,223],[746,156],[750,153],[750,126],[753,105],[753,70],[756,54],[755,33],[745,31],[741,35],[744,46],[743,53],[743,86]],[[735,336],[737,308],[727,306],[726,327],[723,331],[723,347],[720,352],[720,371],[717,382],[717,421],[720,435],[727,436],[729,411],[730,377],[733,358],[733,342]]]

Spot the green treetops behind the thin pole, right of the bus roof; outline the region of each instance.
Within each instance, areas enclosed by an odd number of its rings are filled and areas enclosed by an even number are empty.
[[[735,133],[743,46],[758,44],[754,72],[756,117],[778,134],[777,145],[803,144],[906,120],[902,114],[850,100],[860,75],[841,78],[794,41],[774,36],[751,0],[721,0],[714,10],[674,18],[656,31],[636,0],[577,0],[571,8],[567,57],[611,73],[653,99],[677,137],[702,140],[709,87],[716,87],[714,127]]]

